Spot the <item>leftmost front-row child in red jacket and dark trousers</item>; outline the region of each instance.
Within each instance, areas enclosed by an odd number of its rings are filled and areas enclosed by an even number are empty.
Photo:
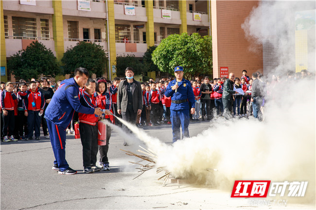
[[[18,141],[18,139],[14,138],[14,115],[15,115],[15,101],[16,95],[13,93],[13,83],[7,82],[5,85],[5,90],[1,92],[1,110],[2,110],[2,119],[3,124],[2,128],[2,135],[3,135],[3,142],[11,142],[11,141]],[[9,130],[9,132],[8,132]],[[9,138],[8,138],[9,136]]]

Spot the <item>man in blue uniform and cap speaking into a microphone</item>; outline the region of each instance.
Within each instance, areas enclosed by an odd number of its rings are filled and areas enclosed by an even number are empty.
[[[190,81],[183,79],[183,67],[175,67],[176,80],[169,82],[165,91],[166,97],[171,97],[170,117],[172,124],[173,139],[175,143],[180,139],[180,125],[182,138],[189,137],[190,105],[191,114],[195,113],[195,99]]]

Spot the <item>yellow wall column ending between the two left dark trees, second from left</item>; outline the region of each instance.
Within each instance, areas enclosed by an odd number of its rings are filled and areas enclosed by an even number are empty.
[[[60,62],[64,56],[64,28],[61,0],[53,0],[53,37],[55,41],[56,58]]]

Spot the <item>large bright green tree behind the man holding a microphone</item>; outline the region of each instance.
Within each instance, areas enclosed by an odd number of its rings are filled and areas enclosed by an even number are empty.
[[[186,76],[212,74],[211,36],[201,37],[198,33],[169,35],[154,50],[152,60],[160,71],[170,74],[178,65],[184,67]]]

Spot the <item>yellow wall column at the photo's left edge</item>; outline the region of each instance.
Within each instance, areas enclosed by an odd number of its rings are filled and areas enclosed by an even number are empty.
[[[4,38],[4,20],[3,20],[3,4],[0,1],[0,66],[5,68],[5,75],[1,76],[1,81],[8,81],[7,71],[7,55],[5,51],[5,38]]]

